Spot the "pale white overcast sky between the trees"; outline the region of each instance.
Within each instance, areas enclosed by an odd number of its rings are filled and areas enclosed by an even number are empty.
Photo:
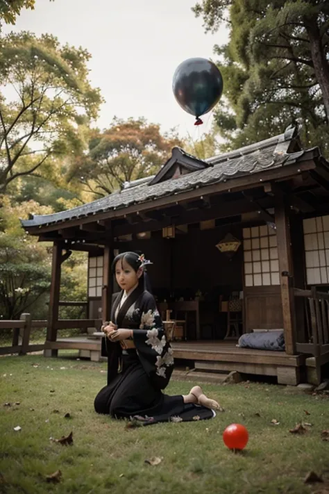
[[[146,117],[162,131],[198,138],[210,130],[211,114],[201,128],[185,113],[171,90],[176,67],[186,58],[215,59],[215,43],[227,42],[224,28],[205,34],[196,19],[194,0],[37,0],[23,10],[9,31],[51,33],[62,44],[82,46],[92,54],[90,81],[106,99],[96,122],[106,128],[112,117]],[[224,81],[225,83],[225,81]],[[220,104],[220,103],[219,103]]]

